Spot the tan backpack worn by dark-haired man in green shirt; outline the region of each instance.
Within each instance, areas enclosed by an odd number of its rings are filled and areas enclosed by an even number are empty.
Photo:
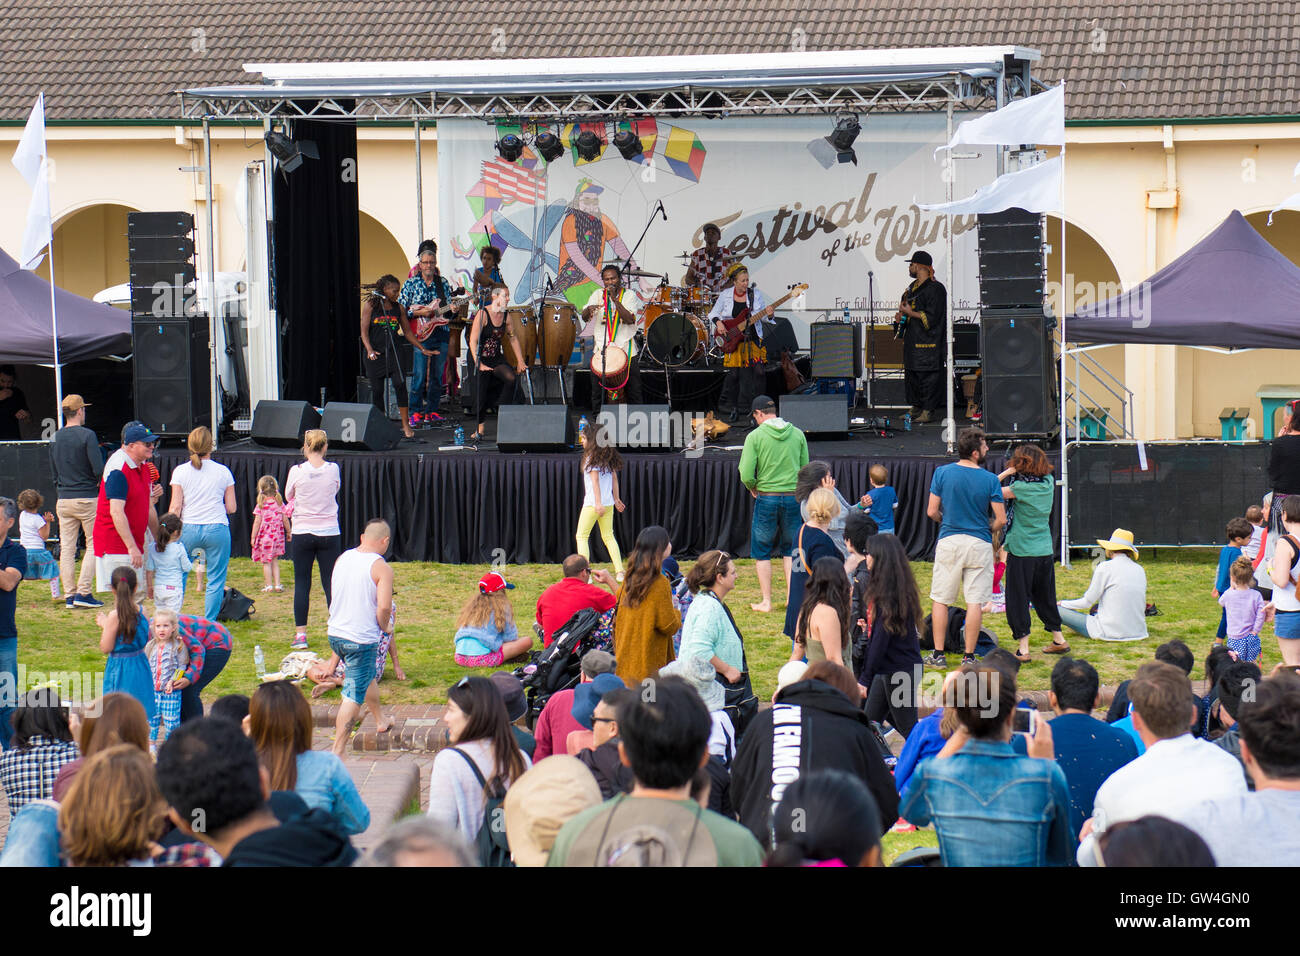
[[[716,866],[705,809],[673,800],[628,797],[602,804],[569,845],[568,866]]]

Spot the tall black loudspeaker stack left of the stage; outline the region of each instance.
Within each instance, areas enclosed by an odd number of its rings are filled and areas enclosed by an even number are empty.
[[[212,427],[208,317],[195,307],[194,216],[126,216],[135,418],[162,437]]]

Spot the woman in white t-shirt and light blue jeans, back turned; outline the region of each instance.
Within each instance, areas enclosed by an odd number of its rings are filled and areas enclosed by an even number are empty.
[[[230,564],[230,515],[235,512],[235,476],[221,462],[212,460],[212,432],[199,425],[190,432],[190,460],[172,472],[172,505],[185,525],[181,546],[186,554],[203,551],[208,566],[208,589],[203,597],[203,617],[217,619],[226,591]]]

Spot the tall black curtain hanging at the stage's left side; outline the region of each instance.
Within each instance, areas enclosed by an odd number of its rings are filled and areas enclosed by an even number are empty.
[[[318,405],[325,389],[326,401],[351,402],[361,308],[356,125],[296,120],[294,139],[315,142],[320,159],[274,176],[281,393]]]

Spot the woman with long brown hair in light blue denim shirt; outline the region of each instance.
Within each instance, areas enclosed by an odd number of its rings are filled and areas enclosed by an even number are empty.
[[[312,749],[312,709],[295,684],[261,684],[254,691],[247,719],[272,790],[294,791],[308,806],[329,812],[347,834],[370,826],[370,810],[343,761],[330,750]]]

